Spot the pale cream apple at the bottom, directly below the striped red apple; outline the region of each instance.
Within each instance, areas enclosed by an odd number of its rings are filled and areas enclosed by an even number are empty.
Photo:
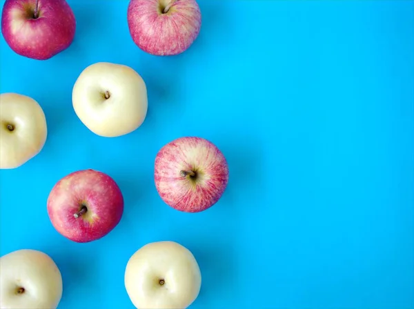
[[[201,289],[199,265],[187,248],[175,241],[157,241],[130,257],[125,288],[136,308],[188,308]]]

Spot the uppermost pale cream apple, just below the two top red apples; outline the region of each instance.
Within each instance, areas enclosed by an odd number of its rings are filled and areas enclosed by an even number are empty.
[[[148,110],[146,84],[128,66],[94,63],[77,78],[72,104],[89,130],[102,137],[119,137],[144,122]]]

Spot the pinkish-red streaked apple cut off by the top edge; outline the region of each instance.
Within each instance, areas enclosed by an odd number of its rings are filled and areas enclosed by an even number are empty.
[[[197,39],[201,12],[195,0],[131,0],[128,28],[132,41],[150,54],[181,54]]]

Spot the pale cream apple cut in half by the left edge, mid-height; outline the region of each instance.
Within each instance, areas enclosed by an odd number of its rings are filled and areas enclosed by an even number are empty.
[[[18,168],[43,149],[48,136],[43,109],[31,97],[0,94],[0,169]]]

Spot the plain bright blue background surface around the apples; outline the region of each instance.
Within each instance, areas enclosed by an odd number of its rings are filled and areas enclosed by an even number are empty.
[[[60,309],[133,308],[126,262],[159,240],[199,261],[191,308],[414,308],[413,1],[199,0],[201,33],[177,57],[135,46],[128,1],[69,3],[76,38],[56,57],[0,41],[1,92],[39,101],[49,130],[37,157],[0,171],[0,251],[55,259]],[[97,61],[147,83],[132,134],[99,137],[72,109]],[[166,206],[153,182],[157,151],[186,135],[213,141],[230,169],[224,196],[198,214]],[[52,228],[46,199],[86,168],[111,175],[126,207],[108,236],[79,244]]]

